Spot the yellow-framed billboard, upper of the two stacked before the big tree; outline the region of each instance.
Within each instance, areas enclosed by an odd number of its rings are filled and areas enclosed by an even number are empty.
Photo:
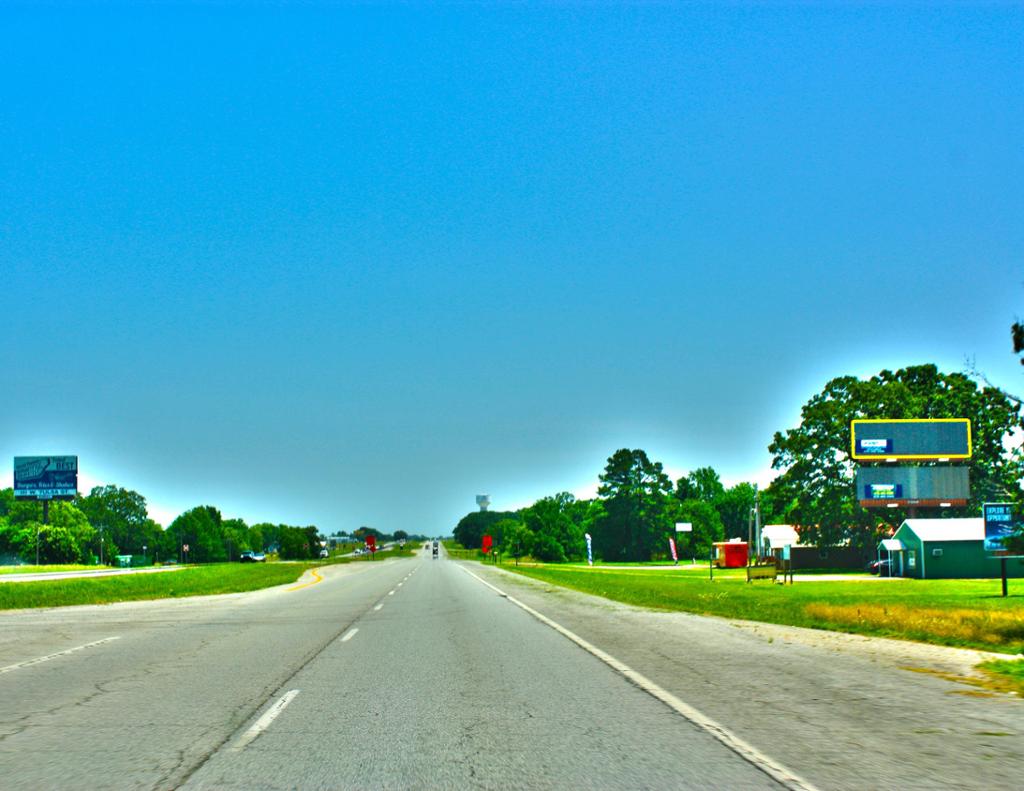
[[[967,418],[852,420],[850,455],[858,461],[969,459],[971,421]]]

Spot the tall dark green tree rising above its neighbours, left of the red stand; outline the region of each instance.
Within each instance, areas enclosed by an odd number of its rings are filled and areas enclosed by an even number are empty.
[[[608,459],[597,492],[604,515],[594,526],[594,551],[605,560],[649,560],[672,529],[672,482],[642,450]]]

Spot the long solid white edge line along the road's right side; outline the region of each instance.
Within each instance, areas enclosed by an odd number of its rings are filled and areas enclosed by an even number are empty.
[[[625,676],[629,681],[631,681],[636,686],[639,686],[648,695],[657,698],[659,701],[662,701],[662,703],[666,704],[676,713],[681,714],[690,722],[692,722],[694,725],[713,736],[719,742],[721,742],[730,750],[732,750],[734,753],[736,753],[739,757],[743,758],[748,762],[757,766],[768,777],[772,778],[772,780],[776,781],[777,783],[780,783],[783,787],[791,789],[791,791],[818,791],[815,786],[811,785],[810,783],[808,783],[806,780],[804,780],[791,769],[787,769],[785,766],[776,761],[774,758],[765,755],[757,747],[748,744],[745,741],[740,739],[731,731],[724,727],[723,725],[720,725],[718,722],[709,717],[707,714],[703,714],[702,712],[693,708],[688,703],[684,703],[682,700],[677,698],[668,690],[658,686],[656,683],[654,683],[654,681],[650,680],[645,675],[638,673],[629,665],[620,662],[610,654],[601,651],[599,648],[597,648],[597,646],[594,646],[593,643],[585,640],[579,634],[569,631],[561,624],[552,621],[546,615],[544,615],[543,613],[539,613],[529,605],[520,601],[514,596],[510,596],[504,590],[495,585],[492,585],[486,580],[473,574],[473,572],[469,571],[469,569],[465,568],[464,566],[460,566],[459,568],[462,569],[464,572],[466,572],[466,574],[468,574],[470,577],[473,577],[478,582],[481,582],[484,585],[486,585],[488,588],[494,590],[499,595],[503,596],[504,598],[507,598],[509,601],[511,601],[519,609],[525,610],[541,623],[550,626],[552,629],[554,629],[562,636],[572,640],[572,642],[582,648],[588,654],[591,654],[592,656],[601,660],[612,670]]]

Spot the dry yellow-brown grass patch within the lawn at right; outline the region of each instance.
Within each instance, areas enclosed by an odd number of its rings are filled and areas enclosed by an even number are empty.
[[[812,602],[806,605],[805,610],[812,618],[857,629],[892,629],[903,634],[947,637],[966,643],[988,646],[1006,646],[1024,639],[1024,619],[1021,614],[1006,610],[936,610],[877,602]]]

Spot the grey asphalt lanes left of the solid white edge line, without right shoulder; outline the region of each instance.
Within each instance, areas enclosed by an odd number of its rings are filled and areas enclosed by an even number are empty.
[[[0,788],[779,787],[461,564],[291,588],[3,615]]]

